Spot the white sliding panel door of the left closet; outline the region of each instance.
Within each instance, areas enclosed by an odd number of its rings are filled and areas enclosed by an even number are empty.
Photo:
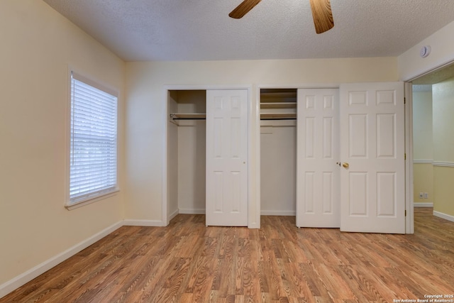
[[[206,92],[206,225],[248,226],[248,91]]]

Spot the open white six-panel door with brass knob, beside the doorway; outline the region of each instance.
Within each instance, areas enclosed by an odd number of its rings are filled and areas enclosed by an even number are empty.
[[[341,231],[405,233],[404,84],[341,85]]]

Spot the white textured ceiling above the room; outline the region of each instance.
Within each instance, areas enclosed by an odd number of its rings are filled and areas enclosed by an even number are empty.
[[[126,61],[397,56],[454,21],[453,0],[331,0],[317,35],[309,0],[43,0]]]

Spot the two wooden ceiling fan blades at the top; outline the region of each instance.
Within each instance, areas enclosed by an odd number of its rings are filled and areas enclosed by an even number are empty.
[[[231,18],[242,18],[248,11],[253,9],[261,0],[244,0],[228,16]],[[312,18],[316,33],[324,33],[334,27],[333,13],[331,12],[330,0],[309,0],[311,1]]]

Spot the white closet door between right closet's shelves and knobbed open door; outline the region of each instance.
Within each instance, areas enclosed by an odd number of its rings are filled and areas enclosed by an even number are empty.
[[[338,89],[298,89],[297,226],[339,227]]]

